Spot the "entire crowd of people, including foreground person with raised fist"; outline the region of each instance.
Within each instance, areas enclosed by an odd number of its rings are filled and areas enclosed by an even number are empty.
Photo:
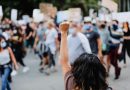
[[[57,71],[56,59],[60,56],[66,90],[107,90],[106,78],[111,65],[115,69],[114,79],[119,79],[119,62],[123,61],[126,67],[126,52],[130,57],[129,23],[90,17],[81,23],[68,22],[56,24],[51,19],[39,23],[19,20],[16,23],[9,18],[1,21],[1,90],[11,90],[9,83],[18,73],[19,65],[23,67],[23,73],[30,70],[24,62],[29,50],[38,55],[39,71],[46,75]]]

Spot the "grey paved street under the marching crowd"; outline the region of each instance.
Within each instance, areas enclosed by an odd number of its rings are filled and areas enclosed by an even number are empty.
[[[22,69],[19,70],[18,75],[13,78],[12,90],[64,90],[63,77],[59,66],[57,73],[46,76],[39,73],[39,59],[33,54],[29,54],[25,58],[25,62],[30,67],[30,71],[22,73]],[[122,64],[121,66],[123,67]],[[113,80],[113,72],[112,67],[108,79],[110,86],[114,90],[130,90],[130,60],[127,68],[122,68],[122,75],[119,80]]]

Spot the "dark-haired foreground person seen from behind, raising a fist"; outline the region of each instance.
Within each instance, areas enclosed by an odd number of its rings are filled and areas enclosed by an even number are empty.
[[[60,60],[64,73],[65,90],[107,90],[106,70],[98,57],[84,53],[69,64],[67,31],[68,23],[60,25],[61,51]]]

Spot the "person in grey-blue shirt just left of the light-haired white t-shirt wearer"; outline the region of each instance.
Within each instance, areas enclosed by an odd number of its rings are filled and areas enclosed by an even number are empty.
[[[40,22],[38,25],[38,29],[36,31],[36,38],[34,42],[34,50],[38,54],[41,62],[40,62],[40,72],[43,72],[45,65],[47,64],[49,58],[48,53],[46,51],[47,47],[45,45],[45,32],[47,28],[45,27],[45,22]]]

